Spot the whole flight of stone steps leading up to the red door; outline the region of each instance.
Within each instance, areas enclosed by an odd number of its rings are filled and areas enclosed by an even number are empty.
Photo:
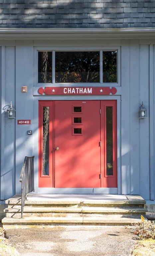
[[[145,200],[125,195],[28,195],[21,219],[21,195],[6,200],[4,228],[55,225],[131,225],[145,217]]]

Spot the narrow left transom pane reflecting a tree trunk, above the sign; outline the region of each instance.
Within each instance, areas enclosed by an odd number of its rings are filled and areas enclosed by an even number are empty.
[[[38,83],[52,83],[52,52],[38,52]]]

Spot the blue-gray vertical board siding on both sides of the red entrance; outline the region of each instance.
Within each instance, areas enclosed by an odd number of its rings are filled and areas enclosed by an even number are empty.
[[[40,85],[33,82],[33,72],[36,72],[34,56],[37,52],[36,48],[38,48],[35,45],[42,43],[43,47],[42,40],[34,40],[34,42],[31,39],[17,40],[16,42],[15,40],[5,41],[10,46],[2,46],[1,49],[3,63],[1,74],[1,199],[7,199],[15,193],[20,193],[19,177],[24,157],[38,155],[38,99],[45,99],[44,96],[37,95],[36,88]],[[80,40],[80,43],[82,41]],[[45,40],[44,43],[45,45],[52,44],[52,40]],[[72,43],[72,40],[67,43]],[[105,41],[103,40],[102,43],[104,44]],[[115,44],[117,47],[121,45],[120,86],[117,87],[117,95],[112,96],[118,102],[118,188],[122,194],[140,194],[143,198],[150,200],[150,196],[152,199],[154,197],[153,140],[155,131],[153,127],[155,127],[155,120],[153,117],[155,92],[153,74],[155,65],[152,63],[155,63],[155,47],[149,46],[144,39],[140,40],[140,44],[137,39],[117,39]],[[150,69],[148,68],[149,63],[151,63]],[[28,87],[27,93],[21,93],[22,85]],[[64,99],[62,97],[59,99]],[[90,96],[87,97],[90,99]],[[92,98],[96,99],[91,96]],[[51,96],[46,96],[46,99],[51,99]],[[102,99],[108,99],[108,96],[104,96]],[[138,109],[142,100],[148,109],[148,118],[139,120]],[[16,103],[16,120],[6,118],[6,110],[10,101],[13,104]],[[17,119],[33,121],[27,128],[15,125]],[[33,135],[28,136],[27,130],[33,130]],[[38,158],[35,157],[34,160],[35,180],[37,181]],[[13,178],[15,176],[16,181]]]

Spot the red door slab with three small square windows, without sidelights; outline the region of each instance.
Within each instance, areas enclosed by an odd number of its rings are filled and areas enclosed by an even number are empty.
[[[55,187],[101,186],[100,101],[55,101],[55,149]]]

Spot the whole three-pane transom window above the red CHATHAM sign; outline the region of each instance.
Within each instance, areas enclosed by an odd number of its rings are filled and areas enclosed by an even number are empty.
[[[38,51],[38,83],[117,83],[117,51]]]

